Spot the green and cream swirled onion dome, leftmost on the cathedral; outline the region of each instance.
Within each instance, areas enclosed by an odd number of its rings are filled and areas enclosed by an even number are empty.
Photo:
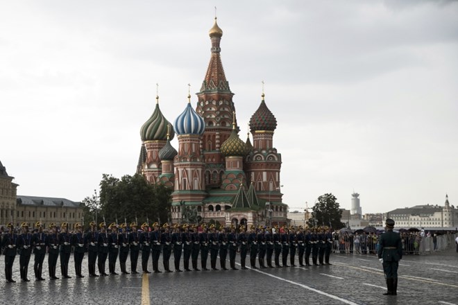
[[[140,137],[142,141],[165,141],[167,140],[167,126],[170,122],[165,119],[159,109],[159,96],[156,96],[156,107],[151,117],[146,121],[140,129]],[[170,139],[175,137],[173,129],[170,132]]]

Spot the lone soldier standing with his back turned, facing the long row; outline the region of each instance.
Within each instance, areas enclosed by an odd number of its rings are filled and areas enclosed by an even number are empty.
[[[398,266],[402,259],[402,241],[399,234],[393,232],[393,228],[394,220],[387,218],[386,232],[378,241],[378,259],[382,262],[385,279],[387,279],[388,290],[384,295],[398,294]]]

